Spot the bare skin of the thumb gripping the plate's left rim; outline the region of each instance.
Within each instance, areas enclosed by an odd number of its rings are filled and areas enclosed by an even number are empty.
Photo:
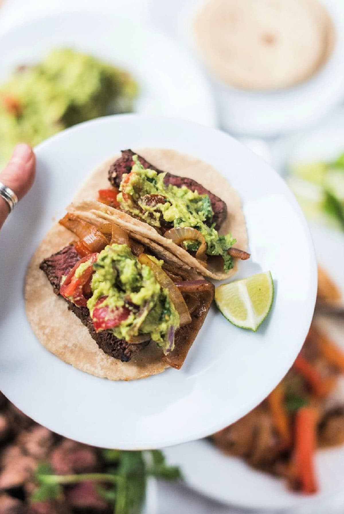
[[[12,189],[18,200],[23,198],[32,186],[36,159],[31,146],[19,143],[13,150],[7,166],[0,173],[0,182]],[[10,212],[7,201],[0,195],[0,229]]]

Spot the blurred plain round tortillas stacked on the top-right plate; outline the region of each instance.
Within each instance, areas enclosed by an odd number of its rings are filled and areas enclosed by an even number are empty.
[[[309,79],[329,59],[335,42],[331,17],[317,0],[208,0],[193,29],[212,74],[252,90]]]

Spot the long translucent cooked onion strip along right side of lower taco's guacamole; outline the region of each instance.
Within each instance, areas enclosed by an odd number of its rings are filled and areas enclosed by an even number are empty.
[[[164,270],[160,268],[155,262],[153,262],[146,253],[141,253],[138,260],[141,264],[149,266],[154,273],[154,277],[159,282],[161,287],[168,289],[170,300],[173,303],[177,313],[179,314],[179,326],[188,325],[191,323],[191,316],[189,309],[182,293],[174,285],[174,282],[167,276]]]

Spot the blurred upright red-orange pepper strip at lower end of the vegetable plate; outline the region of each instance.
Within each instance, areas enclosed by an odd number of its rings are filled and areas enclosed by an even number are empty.
[[[295,417],[295,461],[301,490],[314,493],[318,490],[313,457],[316,449],[318,411],[314,407],[302,407]]]

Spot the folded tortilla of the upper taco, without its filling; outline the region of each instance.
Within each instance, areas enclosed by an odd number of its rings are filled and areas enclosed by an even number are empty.
[[[174,150],[146,148],[139,150],[138,153],[158,169],[174,175],[192,178],[224,200],[227,205],[227,218],[219,232],[220,234],[230,232],[237,240],[234,248],[246,250],[247,231],[239,194],[218,171],[206,162]],[[108,169],[108,162],[104,164],[104,169]],[[205,268],[193,255],[190,255],[184,248],[177,246],[167,237],[160,235],[154,227],[126,212],[108,207],[96,200],[75,201],[68,207],[68,210],[75,212],[84,219],[90,220],[92,216],[102,218],[104,221],[114,223],[128,232],[136,234],[135,237],[139,240],[140,238],[141,240],[143,238],[147,241],[150,240],[164,248],[165,252],[168,252],[164,258],[167,258],[167,255],[174,254],[181,262],[201,273],[204,277],[223,280],[232,277],[237,271],[238,259],[233,259],[233,268],[224,272],[223,260],[209,255]]]

